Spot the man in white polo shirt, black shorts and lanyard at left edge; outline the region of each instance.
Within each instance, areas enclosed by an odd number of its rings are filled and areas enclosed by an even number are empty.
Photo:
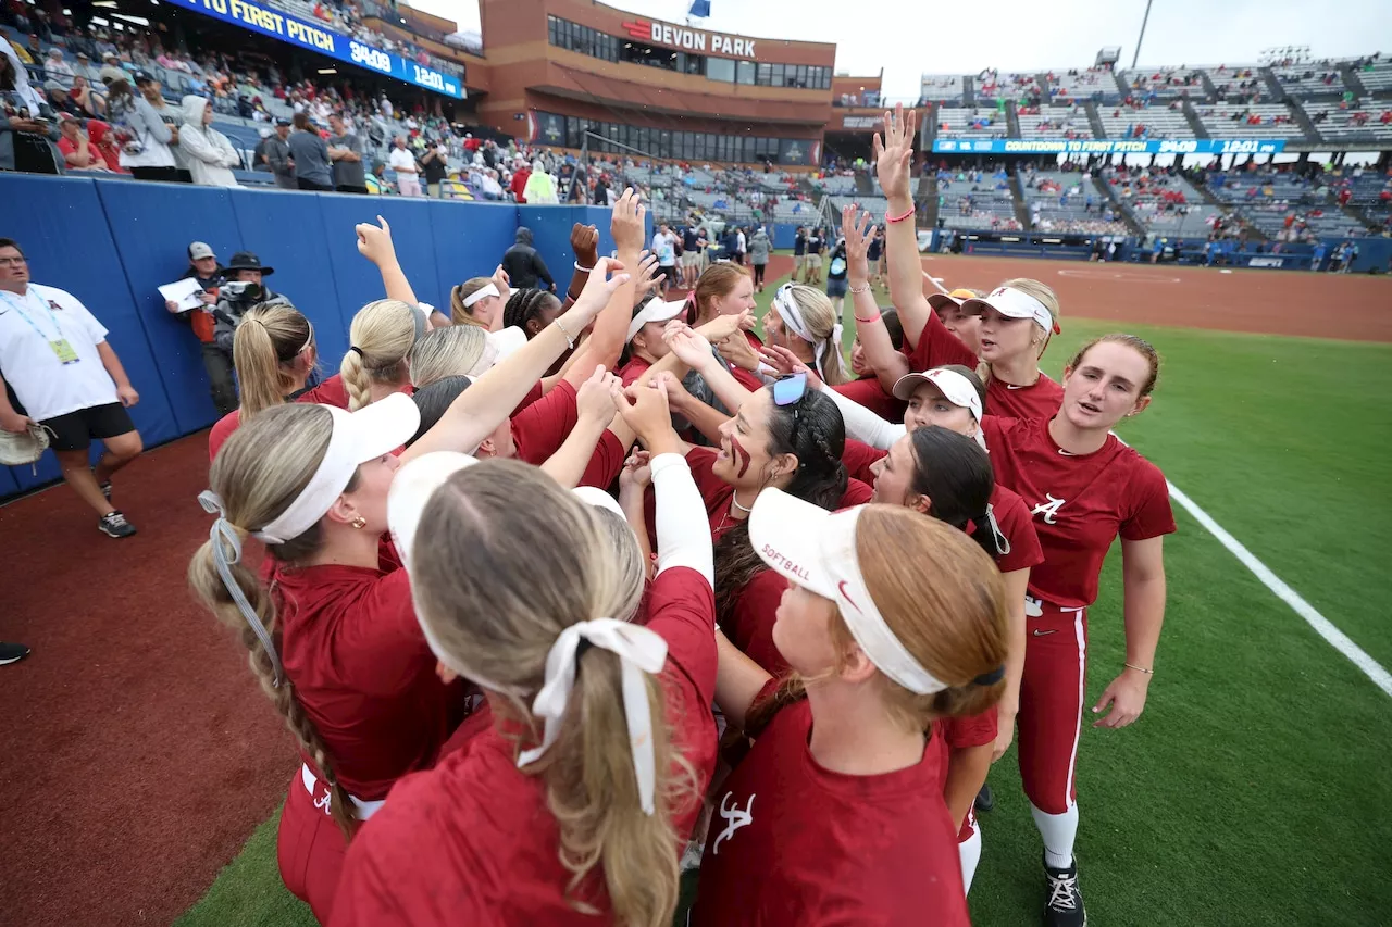
[[[111,475],[143,450],[125,411],[141,395],[102,323],[72,294],[29,283],[29,263],[8,238],[0,238],[0,429],[47,427],[63,479],[100,515],[97,529],[109,537],[134,534],[111,505]],[[7,383],[22,411],[11,405]],[[106,452],[88,468],[93,440]]]

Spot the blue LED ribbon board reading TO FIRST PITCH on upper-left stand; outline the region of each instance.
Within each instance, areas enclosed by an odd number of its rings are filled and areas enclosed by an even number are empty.
[[[235,26],[251,29],[252,32],[259,32],[273,39],[280,39],[287,45],[309,49],[312,52],[317,52],[319,54],[326,54],[330,58],[338,58],[340,61],[355,64],[361,68],[367,68],[369,71],[377,71],[379,74],[386,74],[387,77],[405,81],[406,84],[423,86],[427,90],[434,90],[436,93],[443,93],[444,96],[462,99],[465,95],[462,81],[452,74],[444,74],[443,71],[427,68],[422,64],[416,64],[415,61],[408,61],[398,54],[374,49],[370,45],[363,45],[356,39],[349,39],[345,35],[324,29],[323,26],[312,22],[305,22],[303,19],[270,7],[246,3],[246,0],[168,1],[175,6],[193,10],[195,13],[213,17],[214,19],[231,22]]]

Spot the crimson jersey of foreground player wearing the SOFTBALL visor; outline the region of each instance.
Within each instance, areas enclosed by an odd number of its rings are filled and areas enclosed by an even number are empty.
[[[806,702],[780,710],[718,789],[692,924],[969,924],[938,738],[905,770],[845,775],[810,734]]]

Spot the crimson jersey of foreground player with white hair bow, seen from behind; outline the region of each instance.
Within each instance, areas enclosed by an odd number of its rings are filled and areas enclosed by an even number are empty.
[[[661,679],[672,743],[696,771],[674,821],[683,842],[715,764],[710,585],[685,566],[664,571],[653,580],[649,615],[647,626],[668,646]],[[349,845],[333,927],[607,923],[572,908],[546,782],[518,770],[516,750],[493,727],[434,770],[401,779]],[[574,896],[607,912],[603,871],[590,870]]]

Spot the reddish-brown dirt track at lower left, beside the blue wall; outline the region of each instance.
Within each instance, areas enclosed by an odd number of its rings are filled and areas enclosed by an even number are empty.
[[[4,924],[167,924],[270,817],[294,743],[184,569],[207,537],[207,433],[116,480],[114,541],[67,489],[0,508]]]

